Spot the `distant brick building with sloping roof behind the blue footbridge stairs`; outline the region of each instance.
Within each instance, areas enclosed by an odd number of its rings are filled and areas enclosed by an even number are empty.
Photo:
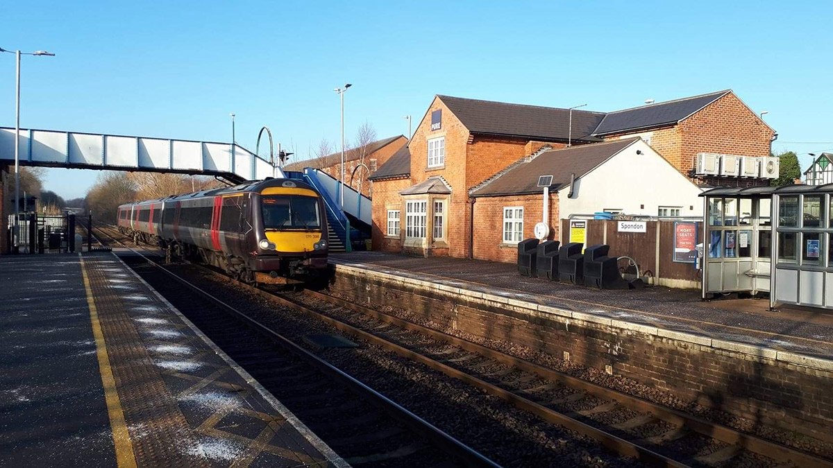
[[[404,135],[387,137],[376,142],[367,143],[365,148],[351,148],[344,152],[344,183],[358,189],[361,182],[367,179],[368,175],[376,172],[379,167],[387,162],[393,153],[404,147],[408,139]],[[364,152],[365,166],[367,172],[362,168],[356,169],[362,163],[362,152]],[[334,152],[325,157],[316,157],[306,161],[292,162],[282,167],[285,171],[303,171],[305,167],[314,167],[326,172],[330,177],[341,180],[342,178],[342,152]],[[356,171],[356,177],[352,177]],[[352,179],[352,183],[351,183]],[[370,184],[362,183],[362,194],[370,196]]]

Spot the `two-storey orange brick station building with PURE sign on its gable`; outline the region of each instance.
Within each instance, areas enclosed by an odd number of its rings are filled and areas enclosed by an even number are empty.
[[[701,184],[717,181],[691,177],[697,153],[768,156],[774,136],[772,128],[731,90],[616,112],[570,112],[437,95],[407,150],[397,152],[388,162],[393,167],[386,164],[369,177],[373,181],[373,248],[455,257],[471,257],[481,251],[485,253],[478,257],[509,260],[514,252],[493,255],[499,244],[506,244],[495,240],[495,233],[500,234],[503,227],[494,213],[476,210],[477,197],[472,197],[471,190],[510,165],[536,157],[545,146],[557,150],[569,142],[577,149],[640,137],[681,176]],[[644,172],[638,182],[650,186],[659,176]],[[610,183],[614,182],[621,182],[616,187],[624,187],[621,178]],[[610,185],[606,190],[614,191],[615,187]],[[511,197],[499,198],[507,207],[517,202]],[[536,200],[541,204],[540,196]],[[656,203],[648,205],[659,209]],[[689,206],[674,208],[682,211]],[[541,207],[538,210],[535,221],[531,214],[529,220],[524,215],[521,238],[532,236],[535,223],[540,221]],[[551,217],[569,214],[551,212]],[[557,222],[551,224],[556,238],[557,226]],[[474,248],[483,242],[494,243],[495,249]]]

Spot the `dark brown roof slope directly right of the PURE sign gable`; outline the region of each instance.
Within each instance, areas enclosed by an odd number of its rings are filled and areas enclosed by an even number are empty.
[[[517,136],[541,140],[566,140],[570,133],[570,110],[527,106],[507,102],[481,101],[464,97],[437,97],[472,133]],[[574,110],[572,139],[598,142],[591,132],[605,117],[604,112]]]

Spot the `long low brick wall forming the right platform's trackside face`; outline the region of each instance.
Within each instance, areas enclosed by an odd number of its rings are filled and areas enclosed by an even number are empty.
[[[510,306],[341,266],[331,287],[358,303],[398,305],[441,329],[509,341],[559,359],[568,352],[570,361],[581,366],[611,366],[614,374],[686,404],[744,418],[741,427],[771,426],[831,440],[833,372],[776,360],[772,350],[673,331],[659,336],[649,326],[596,323],[576,318],[579,312]]]

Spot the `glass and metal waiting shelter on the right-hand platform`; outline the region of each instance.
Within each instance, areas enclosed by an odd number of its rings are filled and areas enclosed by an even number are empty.
[[[833,308],[833,184],[701,193],[704,299],[770,292],[770,305]]]

